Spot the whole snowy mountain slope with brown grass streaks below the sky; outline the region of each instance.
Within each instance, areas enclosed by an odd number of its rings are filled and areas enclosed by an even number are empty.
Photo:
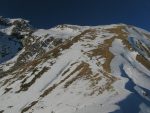
[[[15,55],[0,57],[0,113],[150,113],[148,31],[125,24],[34,29],[2,17],[0,25],[0,44]]]

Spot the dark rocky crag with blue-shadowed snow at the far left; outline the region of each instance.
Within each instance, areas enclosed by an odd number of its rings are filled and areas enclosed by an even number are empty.
[[[33,28],[23,19],[11,20],[3,17],[0,17],[0,28],[4,29],[4,32],[0,31],[0,63],[2,63],[14,57],[23,48],[24,37],[28,36]]]

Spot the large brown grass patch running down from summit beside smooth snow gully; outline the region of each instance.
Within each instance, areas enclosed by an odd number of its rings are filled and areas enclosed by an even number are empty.
[[[105,63],[102,66],[103,66],[103,69],[109,73],[111,72],[110,62],[114,57],[114,55],[109,51],[109,47],[111,47],[114,39],[121,39],[123,44],[126,46],[126,48],[128,48],[129,50],[131,50],[132,48],[130,43],[128,42],[128,35],[126,32],[123,31],[123,29],[125,29],[124,26],[118,26],[115,28],[105,29],[106,31],[117,34],[117,35],[113,36],[110,39],[106,39],[103,44],[99,45],[97,48],[91,51],[88,51],[86,53],[88,54],[89,57],[102,56],[106,58]]]

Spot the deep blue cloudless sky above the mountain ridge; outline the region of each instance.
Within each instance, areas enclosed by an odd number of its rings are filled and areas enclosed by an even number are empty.
[[[38,28],[125,23],[150,31],[150,0],[1,0],[0,15]]]

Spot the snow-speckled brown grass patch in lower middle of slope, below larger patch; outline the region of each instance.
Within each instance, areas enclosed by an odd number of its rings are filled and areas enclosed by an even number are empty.
[[[73,82],[75,82],[78,79],[83,80],[89,80],[90,81],[90,88],[92,89],[92,92],[90,95],[95,94],[98,92],[98,94],[102,94],[105,90],[109,90],[112,88],[112,84],[117,80],[114,76],[109,75],[107,72],[102,72],[105,75],[107,83],[99,86],[98,83],[102,79],[99,75],[99,73],[93,75],[93,72],[91,71],[89,64],[82,62],[71,74],[79,71],[79,73],[73,77],[72,79],[68,80],[64,88],[68,88]]]

